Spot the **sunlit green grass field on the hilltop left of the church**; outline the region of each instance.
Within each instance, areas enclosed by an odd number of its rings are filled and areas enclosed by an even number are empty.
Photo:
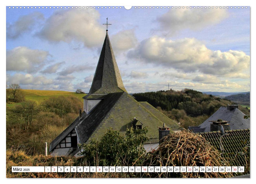
[[[50,90],[32,90],[32,89],[23,89],[23,93],[25,94],[26,100],[33,100],[36,101],[38,104],[40,104],[42,101],[49,99],[50,97],[56,97],[56,96],[76,96],[81,99],[83,102],[82,97],[84,97],[86,94],[80,94],[75,92],[69,92],[69,91],[50,91]],[[17,105],[19,103],[6,103],[7,107],[12,107],[13,105]]]

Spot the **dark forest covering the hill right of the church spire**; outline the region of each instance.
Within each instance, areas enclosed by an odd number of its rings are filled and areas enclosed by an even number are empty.
[[[135,93],[133,96],[137,101],[147,101],[169,118],[179,121],[184,128],[200,125],[221,106],[236,104],[192,89]],[[247,108],[239,105],[239,109],[244,114],[250,114]]]

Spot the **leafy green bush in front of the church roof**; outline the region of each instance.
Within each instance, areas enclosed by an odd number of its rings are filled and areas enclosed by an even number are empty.
[[[146,156],[143,147],[147,129],[127,129],[125,136],[112,128],[108,129],[100,141],[92,140],[89,144],[80,145],[81,156],[90,165],[100,166],[132,166],[140,164]]]

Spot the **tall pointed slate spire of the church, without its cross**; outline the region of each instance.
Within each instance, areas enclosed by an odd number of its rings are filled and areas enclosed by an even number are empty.
[[[127,92],[124,88],[107,32],[89,95],[123,91]]]

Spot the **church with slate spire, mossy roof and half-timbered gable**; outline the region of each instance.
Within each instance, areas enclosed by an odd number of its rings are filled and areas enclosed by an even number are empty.
[[[138,102],[127,93],[106,31],[90,91],[83,97],[83,109],[79,109],[79,117],[51,142],[53,156],[79,156],[78,144],[100,140],[110,127],[121,135],[130,127],[147,127],[149,140],[144,144],[147,151],[158,146],[160,127],[164,123],[170,132],[180,128],[176,121],[149,103]]]

